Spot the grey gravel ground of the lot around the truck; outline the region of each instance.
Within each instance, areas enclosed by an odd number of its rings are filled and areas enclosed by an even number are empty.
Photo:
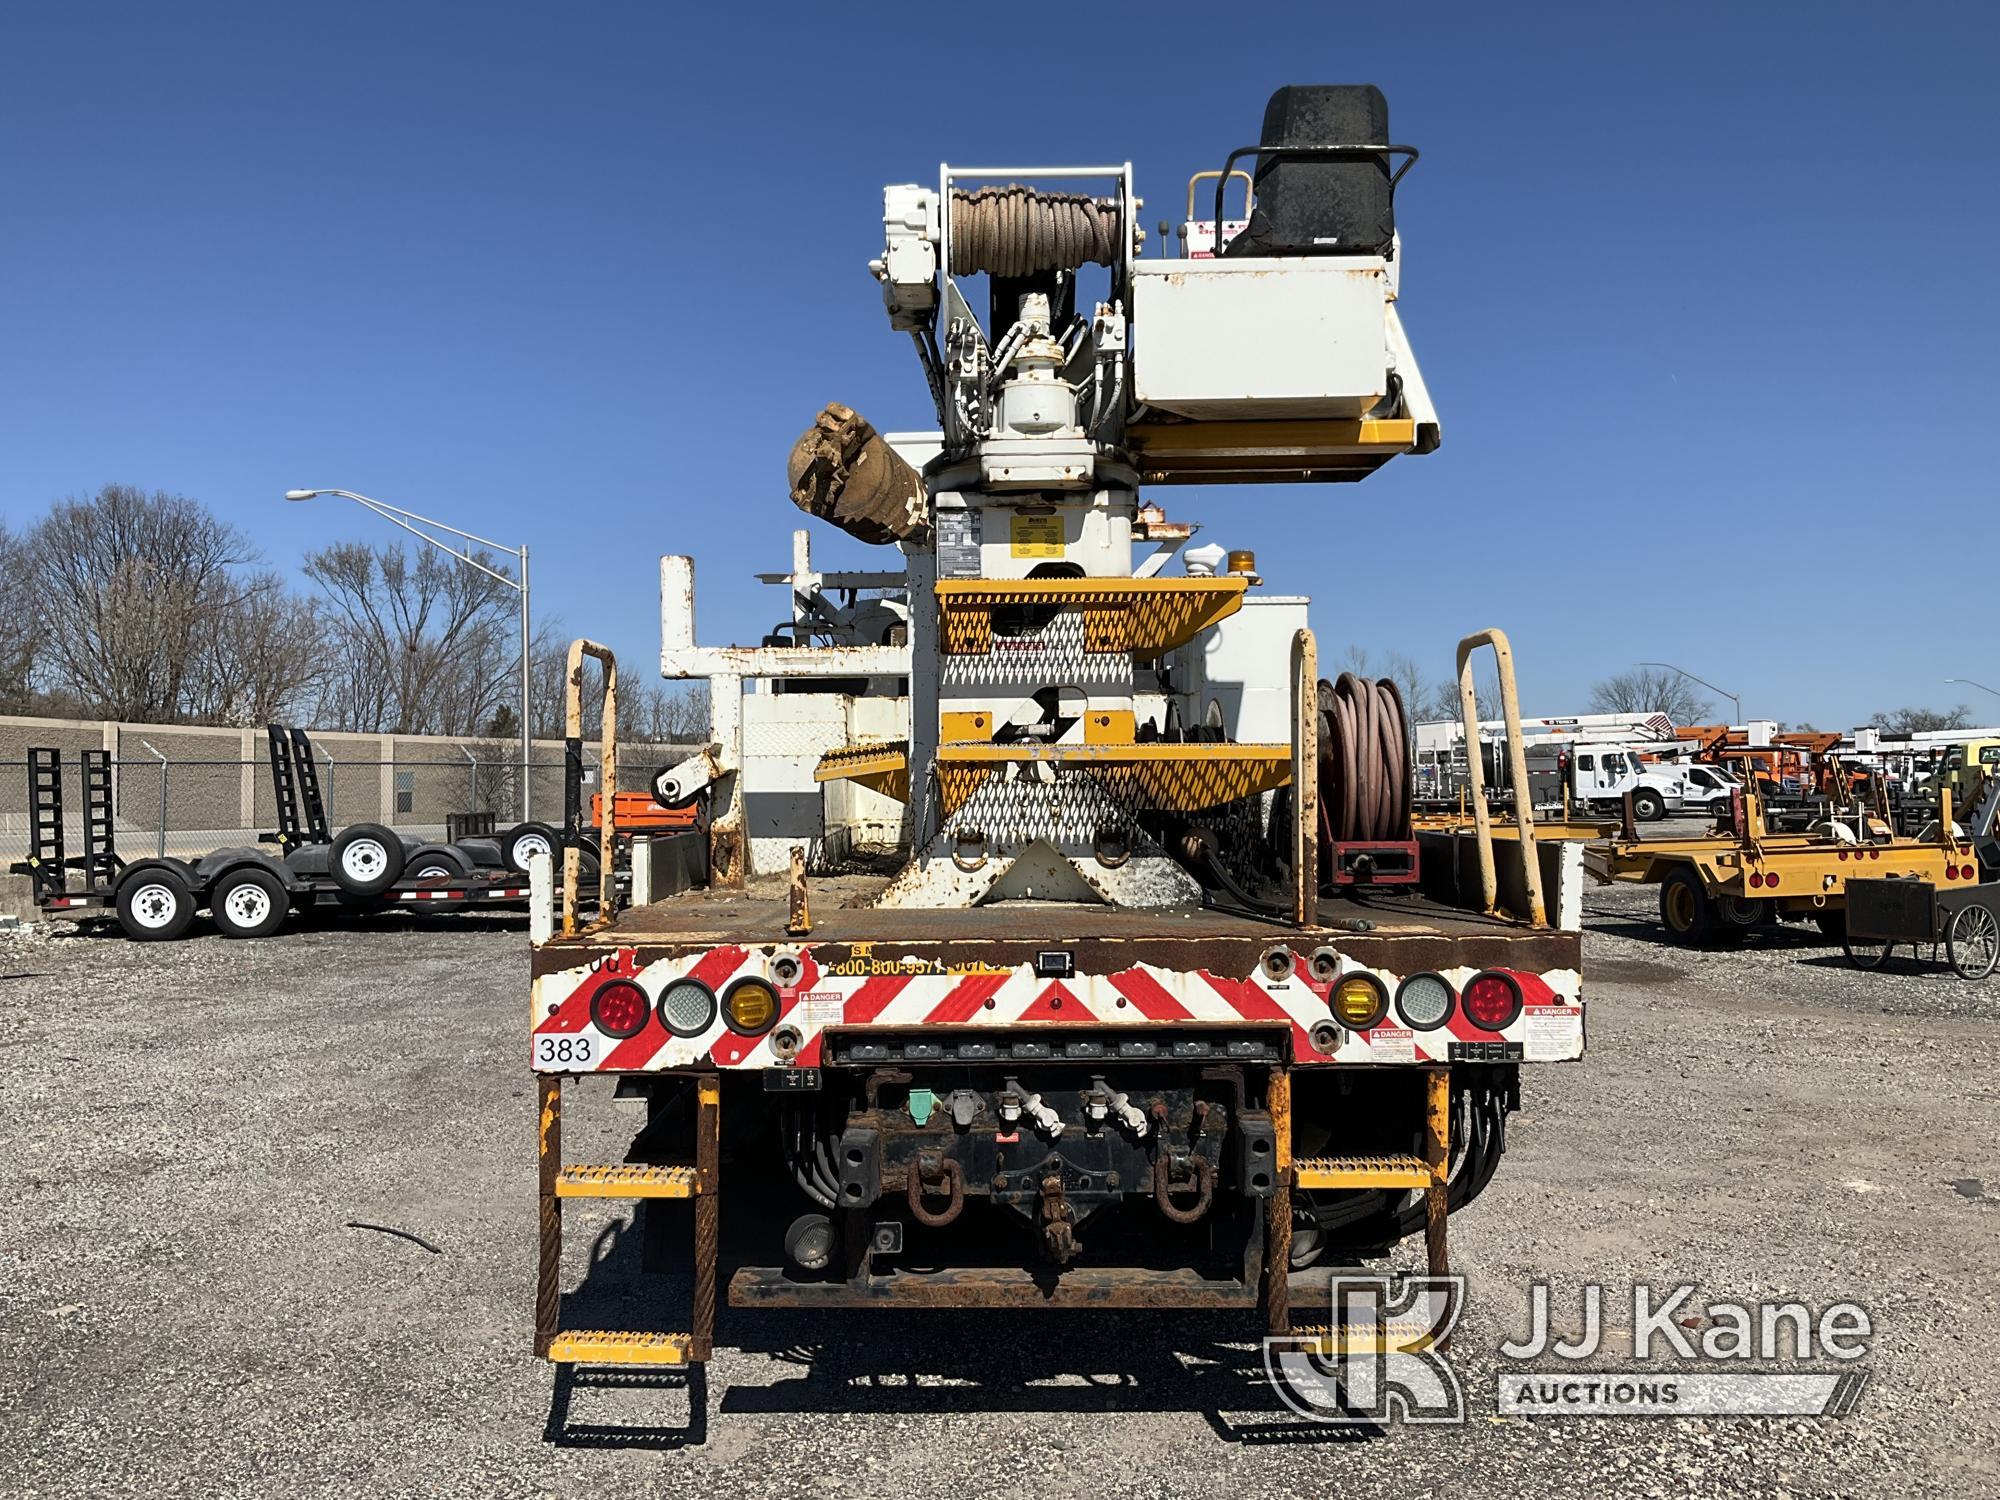
[[[726,1314],[692,1438],[682,1388],[554,1400],[528,1356],[518,924],[0,934],[0,1474],[30,1496],[2000,1494],[1978,1354],[2000,982],[1856,974],[1786,934],[1668,948],[1650,888],[1586,908],[1590,1056],[1526,1070],[1500,1176],[1452,1218],[1470,1422],[1388,1430],[1300,1424],[1242,1320],[1164,1314]],[[586,1094],[570,1156],[614,1160],[618,1128]],[[572,1280],[632,1260],[616,1214],[570,1222]],[[1496,1418],[1532,1280],[1566,1324],[1586,1280],[1614,1308],[1636,1280],[1852,1298],[1872,1380],[1842,1420]],[[1598,1364],[1630,1364],[1620,1336]]]

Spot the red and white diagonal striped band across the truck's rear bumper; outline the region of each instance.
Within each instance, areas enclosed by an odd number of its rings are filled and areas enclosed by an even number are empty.
[[[1436,1030],[1402,1026],[1394,1012],[1368,1030],[1340,1028],[1332,1054],[1312,1040],[1312,1028],[1330,1020],[1328,992],[1340,978],[1374,974],[1394,994],[1400,974],[1370,970],[1350,958],[1328,984],[1306,978],[1306,956],[1298,954],[1292,978],[1224,978],[1208,970],[1166,970],[1134,964],[1116,974],[1044,978],[1032,964],[972,972],[930,970],[920,962],[848,958],[822,970],[812,948],[784,950],[800,966],[798,982],[780,986],[770,974],[776,952],[720,946],[702,954],[660,958],[638,964],[632,948],[618,948],[598,962],[544,974],[532,986],[532,1030],[536,1038],[592,1038],[586,1048],[568,1048],[564,1058],[544,1056],[552,1048],[532,1046],[534,1066],[546,1072],[652,1072],[712,1064],[718,1068],[770,1068],[780,1058],[772,1036],[796,1032],[796,1062],[820,1062],[820,1040],[828,1026],[1162,1026],[1162,1024],[1242,1024],[1282,1022],[1292,1032],[1292,1056],[1302,1064],[1420,1064],[1448,1062],[1452,1042],[1516,1042],[1522,1062],[1564,1062],[1584,1052],[1582,984],[1576,970],[1524,974],[1522,1014],[1502,1032],[1474,1026],[1454,1006]],[[1454,990],[1482,970],[1450,968],[1444,978]],[[694,978],[718,996],[730,980],[754,976],[778,990],[778,1020],[762,1036],[738,1036],[720,1018],[700,1036],[674,1036],[660,1024],[658,998],[668,984]],[[654,1014],[644,1030],[628,1038],[600,1034],[590,1020],[590,996],[610,980],[630,980],[652,996]],[[580,1056],[582,1054],[582,1056]]]

